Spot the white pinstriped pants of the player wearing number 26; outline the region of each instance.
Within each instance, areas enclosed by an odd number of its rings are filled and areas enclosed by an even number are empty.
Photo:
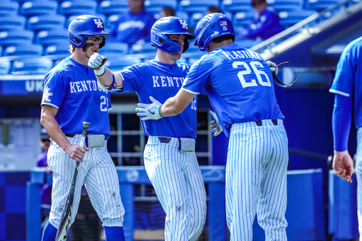
[[[251,241],[252,223],[265,240],[286,241],[288,138],[283,121],[233,124],[226,163],[226,219],[230,241]]]

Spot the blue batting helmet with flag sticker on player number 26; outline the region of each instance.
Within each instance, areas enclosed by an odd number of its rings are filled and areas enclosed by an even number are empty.
[[[210,13],[199,20],[196,26],[195,46],[206,51],[209,43],[216,37],[233,35],[234,28],[230,19],[223,13]]]

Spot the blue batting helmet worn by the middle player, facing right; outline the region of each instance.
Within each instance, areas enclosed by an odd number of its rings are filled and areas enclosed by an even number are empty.
[[[166,35],[185,35],[183,52],[189,48],[187,40],[195,38],[194,35],[189,33],[186,21],[177,17],[160,18],[151,28],[151,45],[169,54],[176,54],[181,50],[181,46],[177,42],[170,40]]]

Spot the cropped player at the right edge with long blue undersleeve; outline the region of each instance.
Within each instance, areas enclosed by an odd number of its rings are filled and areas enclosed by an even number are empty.
[[[362,240],[362,37],[346,46],[337,64],[329,92],[334,96],[332,129],[334,140],[333,170],[344,180],[352,182],[354,162],[348,151],[352,113],[357,131],[356,177],[358,230]]]

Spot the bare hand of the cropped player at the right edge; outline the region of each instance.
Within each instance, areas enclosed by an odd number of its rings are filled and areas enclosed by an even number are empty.
[[[354,160],[347,151],[334,151],[333,170],[338,177],[352,182],[352,173],[354,172]]]

